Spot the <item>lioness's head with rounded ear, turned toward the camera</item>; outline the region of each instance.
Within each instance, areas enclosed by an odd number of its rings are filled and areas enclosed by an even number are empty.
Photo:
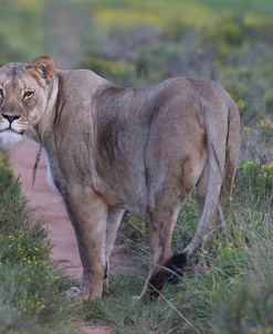
[[[18,142],[42,117],[54,73],[53,60],[35,59],[31,64],[0,66],[0,139]]]

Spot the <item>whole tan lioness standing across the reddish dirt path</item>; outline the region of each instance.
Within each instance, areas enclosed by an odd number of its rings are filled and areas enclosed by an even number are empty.
[[[228,93],[177,77],[123,88],[92,71],[54,69],[49,56],[0,67],[0,138],[27,134],[42,145],[73,223],[83,264],[81,291],[101,298],[124,211],[145,215],[151,252],[140,294],[162,289],[162,265],[183,265],[212,221],[222,188],[229,206],[240,122]],[[197,189],[200,219],[180,253],[171,233]]]

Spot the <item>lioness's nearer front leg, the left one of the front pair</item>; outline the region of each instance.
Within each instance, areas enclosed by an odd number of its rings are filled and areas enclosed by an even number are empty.
[[[107,207],[91,187],[73,185],[65,192],[64,200],[83,264],[81,291],[87,298],[101,298],[105,272]]]

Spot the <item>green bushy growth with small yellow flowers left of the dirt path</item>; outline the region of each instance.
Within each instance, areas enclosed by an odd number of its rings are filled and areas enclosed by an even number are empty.
[[[72,333],[76,327],[74,304],[64,294],[69,283],[50,252],[46,231],[33,220],[0,153],[0,333]]]

